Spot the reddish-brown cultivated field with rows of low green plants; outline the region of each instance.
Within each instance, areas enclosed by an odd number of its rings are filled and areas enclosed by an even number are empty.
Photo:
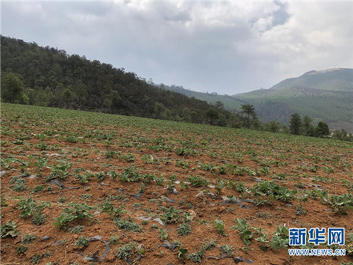
[[[349,264],[352,165],[348,142],[2,104],[1,264]],[[289,257],[316,227],[347,255]]]

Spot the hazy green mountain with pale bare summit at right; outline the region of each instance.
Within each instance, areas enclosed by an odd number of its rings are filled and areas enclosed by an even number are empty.
[[[262,122],[287,124],[292,113],[323,120],[331,129],[353,132],[353,69],[309,71],[270,89],[234,95],[252,104]]]

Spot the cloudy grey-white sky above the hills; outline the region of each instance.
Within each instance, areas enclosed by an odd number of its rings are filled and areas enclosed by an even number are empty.
[[[227,95],[353,68],[353,1],[1,1],[1,34]]]

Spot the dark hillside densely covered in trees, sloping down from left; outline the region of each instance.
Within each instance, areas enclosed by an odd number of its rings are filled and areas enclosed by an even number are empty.
[[[136,73],[1,36],[1,101],[229,125],[234,114],[164,90]]]

